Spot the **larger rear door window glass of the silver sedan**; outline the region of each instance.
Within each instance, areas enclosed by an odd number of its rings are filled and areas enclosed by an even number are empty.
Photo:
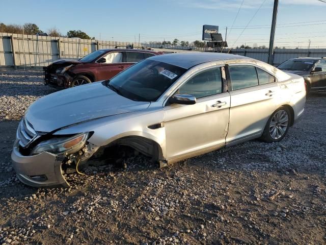
[[[232,89],[249,88],[258,85],[255,66],[234,65],[229,67]]]

